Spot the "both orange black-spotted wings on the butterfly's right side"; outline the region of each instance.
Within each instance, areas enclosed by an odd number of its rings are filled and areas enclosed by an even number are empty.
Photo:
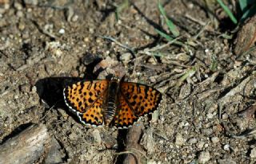
[[[139,117],[158,109],[162,94],[144,84],[121,82],[117,115],[114,124],[117,127],[129,127]]]

